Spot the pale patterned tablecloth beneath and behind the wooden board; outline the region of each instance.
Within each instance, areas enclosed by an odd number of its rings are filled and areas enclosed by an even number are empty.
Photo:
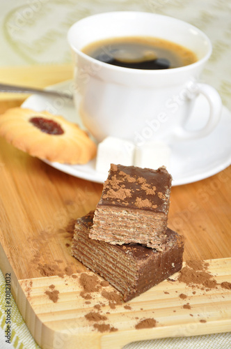
[[[94,13],[143,10],[189,22],[204,31],[213,45],[202,81],[215,87],[223,104],[231,110],[230,0],[8,0],[1,1],[0,8],[0,43],[1,52],[4,52],[0,55],[0,66],[67,64],[72,59],[66,40],[67,30],[77,20]],[[4,281],[0,272],[0,347],[39,348],[14,302],[12,341],[5,342]],[[125,348],[229,349],[231,334],[141,341]]]

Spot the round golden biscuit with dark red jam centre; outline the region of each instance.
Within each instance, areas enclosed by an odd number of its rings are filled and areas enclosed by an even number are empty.
[[[67,164],[95,157],[96,145],[77,124],[49,112],[15,107],[0,116],[0,135],[31,156]]]

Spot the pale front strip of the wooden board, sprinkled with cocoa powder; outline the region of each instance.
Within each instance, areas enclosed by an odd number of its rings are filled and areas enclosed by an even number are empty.
[[[3,260],[3,251],[0,253]],[[9,270],[8,260],[3,269]],[[231,283],[231,258],[208,260],[209,272],[221,284]],[[87,272],[93,275],[92,272]],[[74,278],[73,278],[74,275]],[[35,340],[44,349],[49,348],[92,348],[118,349],[132,341],[159,339],[175,336],[195,336],[229,332],[231,328],[231,292],[218,285],[217,288],[202,290],[177,281],[177,274],[154,288],[132,299],[126,304],[111,309],[109,300],[101,292],[90,293],[91,299],[81,297],[79,283],[81,273],[23,279],[16,281],[15,300]],[[99,280],[102,278],[99,277]],[[58,290],[58,301],[53,302],[45,293],[50,285]],[[104,287],[115,292],[112,286]],[[180,297],[181,294],[186,299]],[[190,309],[184,309],[189,304]],[[96,309],[95,306],[99,306]],[[126,309],[125,306],[129,306]],[[89,321],[90,312],[106,316],[106,320]],[[157,326],[136,329],[145,318],[157,320]],[[110,325],[116,332],[98,332],[97,325]]]

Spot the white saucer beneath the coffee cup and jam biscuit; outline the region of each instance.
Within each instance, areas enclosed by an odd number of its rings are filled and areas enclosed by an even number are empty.
[[[72,81],[56,84],[49,87],[49,89],[72,91]],[[60,97],[53,98],[35,94],[27,98],[22,107],[61,114],[69,121],[76,122],[84,128],[72,101]],[[208,108],[205,98],[199,96],[193,110],[191,123],[189,123],[191,129],[200,128],[202,124],[205,124],[206,116],[209,113]],[[173,176],[173,186],[199,181],[227,168],[231,164],[230,135],[231,113],[226,107],[223,107],[221,121],[207,137],[172,144],[172,157],[168,171]],[[107,177],[107,175],[95,170],[95,160],[86,165],[63,165],[61,163],[45,162],[67,174],[97,183],[103,183]]]

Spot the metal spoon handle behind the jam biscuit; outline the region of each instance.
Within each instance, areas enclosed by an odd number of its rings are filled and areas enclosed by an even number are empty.
[[[64,97],[72,99],[72,94],[68,94],[66,92],[59,92],[59,91],[51,91],[47,89],[34,89],[32,87],[22,87],[22,86],[14,86],[9,84],[0,84],[0,92],[11,92],[11,93],[17,93],[17,94],[42,94],[42,95],[49,95],[49,96],[58,96],[58,97]]]

